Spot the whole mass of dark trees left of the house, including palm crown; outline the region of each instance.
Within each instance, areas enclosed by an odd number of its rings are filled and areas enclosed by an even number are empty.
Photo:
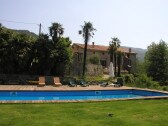
[[[2,26],[0,73],[63,76],[72,58],[71,41],[61,37],[64,28],[59,23],[53,23],[51,29],[52,39],[46,34],[35,39]]]

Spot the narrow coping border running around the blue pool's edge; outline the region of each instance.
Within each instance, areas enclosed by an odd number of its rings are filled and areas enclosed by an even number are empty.
[[[104,89],[104,90],[118,90],[117,89]],[[153,89],[142,89],[142,88],[130,88],[132,90],[142,90],[142,91],[153,91],[159,93],[166,93],[167,91],[159,91]],[[120,89],[120,90],[129,90],[129,89]],[[1,91],[9,91],[9,90],[1,90]],[[14,90],[14,91],[28,91],[28,90]],[[29,90],[29,91],[54,91],[54,90]],[[55,90],[59,91],[59,90]],[[60,91],[80,91],[80,90],[60,90]],[[99,91],[99,90],[82,90],[82,91]],[[138,97],[138,98],[113,98],[113,99],[93,99],[93,100],[0,100],[0,104],[10,104],[10,103],[76,103],[76,102],[106,102],[106,101],[126,101],[126,100],[148,100],[148,99],[168,99],[168,96],[146,96],[146,97]]]

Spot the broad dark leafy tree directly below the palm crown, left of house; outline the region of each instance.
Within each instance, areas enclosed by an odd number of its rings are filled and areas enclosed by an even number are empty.
[[[72,58],[70,44],[69,38],[59,37],[53,43],[49,36],[41,34],[36,42],[38,62],[35,63],[37,67],[33,67],[36,73],[63,76]]]

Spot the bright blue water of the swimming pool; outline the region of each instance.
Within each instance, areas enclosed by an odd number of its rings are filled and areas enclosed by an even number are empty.
[[[0,91],[0,100],[103,100],[146,96],[168,96],[168,94],[135,89],[99,91]]]

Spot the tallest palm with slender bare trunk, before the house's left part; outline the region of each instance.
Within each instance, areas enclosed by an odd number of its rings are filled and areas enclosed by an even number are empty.
[[[83,77],[85,76],[85,66],[86,66],[86,53],[87,53],[87,44],[89,42],[90,37],[93,37],[94,31],[96,29],[93,27],[91,22],[84,22],[84,26],[82,26],[82,30],[79,31],[79,34],[82,34],[84,38],[85,48],[84,48],[84,60],[83,60]]]

